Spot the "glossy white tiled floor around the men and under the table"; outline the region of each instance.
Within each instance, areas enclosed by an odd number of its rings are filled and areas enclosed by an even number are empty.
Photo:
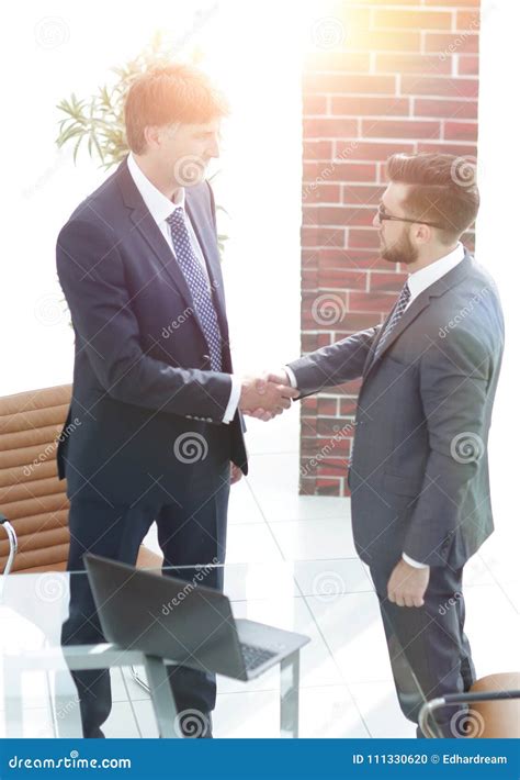
[[[349,501],[297,495],[297,415],[249,422],[250,476],[231,491],[226,592],[237,617],[307,634],[302,650],[303,737],[414,737],[392,682],[376,598],[353,548]],[[154,533],[147,544],[157,548]],[[518,542],[499,530],[465,570],[467,634],[479,676],[518,668]],[[252,565],[255,564],[255,565]],[[281,570],[284,584],[280,587]],[[282,590],[282,593],[280,593]],[[106,736],[157,736],[150,700],[129,670],[113,670]],[[24,735],[50,736],[35,680]],[[278,736],[276,670],[250,683],[218,679],[218,737]],[[39,695],[39,699],[38,699]],[[3,713],[0,711],[0,733]]]

